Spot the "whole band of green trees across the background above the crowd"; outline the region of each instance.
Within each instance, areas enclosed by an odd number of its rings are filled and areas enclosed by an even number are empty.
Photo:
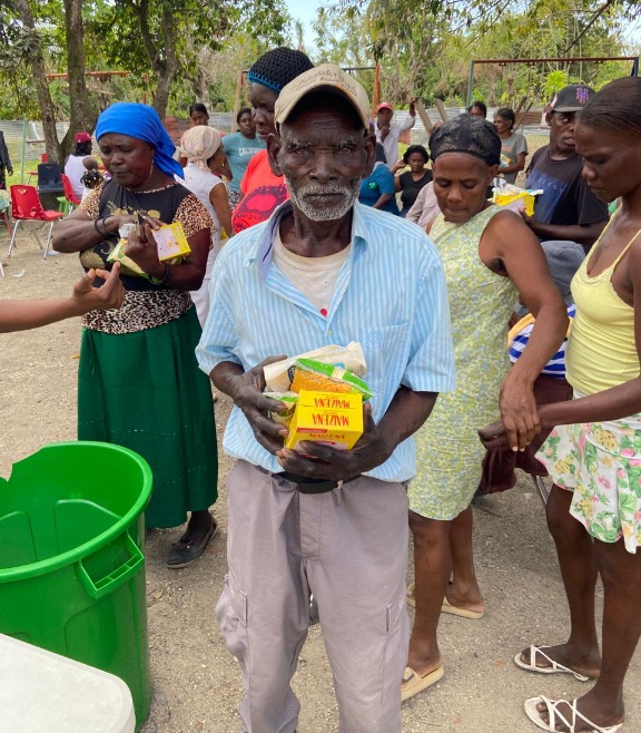
[[[631,0],[335,0],[314,26],[315,61],[382,65],[384,98],[463,105],[471,59],[620,56]],[[42,119],[49,154],[57,119],[91,129],[114,100],[185,115],[194,100],[234,105],[238,74],[276,45],[303,43],[284,0],[0,0],[0,117]],[[125,77],[86,77],[85,70]],[[46,75],[69,71],[47,81]],[[596,88],[629,72],[614,62],[477,66],[475,95],[515,105],[550,98],[559,79]],[[373,72],[357,72],[372,91]],[[245,99],[240,98],[240,104]],[[52,131],[53,130],[53,131]],[[61,146],[58,148],[58,146]]]

